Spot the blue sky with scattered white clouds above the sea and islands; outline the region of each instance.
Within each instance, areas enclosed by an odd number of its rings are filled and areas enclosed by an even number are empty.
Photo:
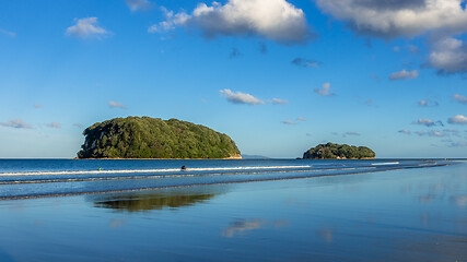
[[[75,157],[86,127],[128,116],[203,124],[249,155],[467,157],[465,8],[0,1],[0,158]]]

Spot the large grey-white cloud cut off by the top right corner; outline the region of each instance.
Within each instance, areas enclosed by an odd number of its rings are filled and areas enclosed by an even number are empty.
[[[318,8],[361,34],[413,37],[428,31],[464,32],[463,0],[316,0]]]

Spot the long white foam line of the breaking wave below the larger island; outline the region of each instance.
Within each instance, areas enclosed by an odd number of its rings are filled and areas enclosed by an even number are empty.
[[[199,167],[186,171],[230,171],[230,170],[258,170],[258,169],[291,169],[311,168],[306,166],[257,166],[257,167]],[[31,172],[0,172],[0,176],[55,176],[55,175],[92,175],[92,174],[139,174],[139,172],[174,172],[179,168],[163,169],[122,169],[122,170],[80,170],[80,171],[31,171]]]

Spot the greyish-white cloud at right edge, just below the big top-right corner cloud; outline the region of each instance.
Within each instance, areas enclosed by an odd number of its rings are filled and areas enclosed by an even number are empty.
[[[463,40],[444,37],[431,44],[428,66],[442,74],[467,72],[467,45]]]

